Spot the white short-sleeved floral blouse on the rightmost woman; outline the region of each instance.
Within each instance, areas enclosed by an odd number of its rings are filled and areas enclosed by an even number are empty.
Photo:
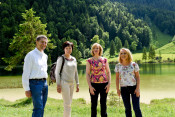
[[[115,72],[119,73],[119,82],[121,87],[136,85],[135,73],[139,71],[139,66],[135,62],[131,62],[128,66],[118,63],[115,66]]]

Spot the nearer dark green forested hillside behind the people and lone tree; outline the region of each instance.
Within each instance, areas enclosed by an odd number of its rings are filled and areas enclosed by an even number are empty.
[[[62,43],[74,40],[79,52],[76,58],[89,57],[90,46],[99,42],[104,48],[120,39],[137,50],[148,47],[152,38],[149,26],[135,19],[127,8],[108,0],[1,0],[0,4],[0,58],[10,57],[8,50],[19,24],[24,22],[21,13],[33,8],[42,23],[47,23],[51,40],[57,46],[51,54],[52,61],[62,54]],[[98,35],[98,36],[95,36]],[[134,51],[134,50],[133,50]],[[0,64],[5,63],[0,60]]]

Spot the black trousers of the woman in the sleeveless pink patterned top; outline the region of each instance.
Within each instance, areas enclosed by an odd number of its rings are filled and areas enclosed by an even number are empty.
[[[97,117],[97,104],[98,104],[98,95],[100,94],[100,105],[101,105],[101,117],[107,117],[107,93],[106,85],[108,83],[91,83],[92,87],[95,88],[95,95],[91,95],[91,117]]]

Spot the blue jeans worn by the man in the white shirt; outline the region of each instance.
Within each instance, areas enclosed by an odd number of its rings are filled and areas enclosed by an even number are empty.
[[[30,80],[30,91],[33,100],[32,117],[43,117],[47,101],[48,85],[46,80]]]

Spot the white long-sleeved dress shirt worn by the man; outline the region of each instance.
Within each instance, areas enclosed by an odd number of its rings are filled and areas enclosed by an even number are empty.
[[[22,74],[22,84],[25,91],[29,91],[29,79],[47,78],[47,55],[37,48],[30,51],[25,59]]]

